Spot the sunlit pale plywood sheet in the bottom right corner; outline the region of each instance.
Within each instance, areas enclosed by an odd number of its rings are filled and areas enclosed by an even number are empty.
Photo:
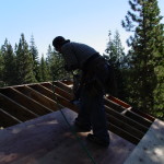
[[[164,164],[164,122],[155,119],[125,164]]]

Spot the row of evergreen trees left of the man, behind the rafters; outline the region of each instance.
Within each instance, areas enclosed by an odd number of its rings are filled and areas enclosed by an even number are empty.
[[[30,45],[21,34],[14,48],[5,38],[0,49],[0,86],[20,85],[61,79],[66,75],[63,69],[56,71],[63,63],[61,56],[49,45],[46,58],[39,59],[38,50],[31,37]]]

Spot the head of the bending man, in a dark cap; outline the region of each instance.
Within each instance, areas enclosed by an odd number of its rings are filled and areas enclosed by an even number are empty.
[[[61,47],[62,45],[67,44],[67,43],[70,43],[69,39],[65,39],[65,37],[62,36],[57,36],[54,40],[52,40],[52,46],[55,47],[55,49],[57,51],[61,51]]]

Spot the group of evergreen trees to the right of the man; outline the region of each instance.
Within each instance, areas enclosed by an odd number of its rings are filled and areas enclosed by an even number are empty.
[[[164,119],[164,24],[157,0],[129,0],[122,27],[130,32],[127,55],[118,34],[106,54],[115,66],[118,97],[134,108]]]

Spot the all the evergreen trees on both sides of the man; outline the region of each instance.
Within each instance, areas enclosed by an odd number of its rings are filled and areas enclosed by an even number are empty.
[[[164,119],[164,24],[157,0],[129,0],[130,10],[122,27],[130,32],[126,54],[118,31],[108,32],[104,57],[114,67],[117,97],[134,108]],[[47,55],[38,58],[32,36],[30,45],[21,34],[14,49],[8,39],[0,48],[0,85],[60,80],[67,75],[62,57],[48,46]]]

